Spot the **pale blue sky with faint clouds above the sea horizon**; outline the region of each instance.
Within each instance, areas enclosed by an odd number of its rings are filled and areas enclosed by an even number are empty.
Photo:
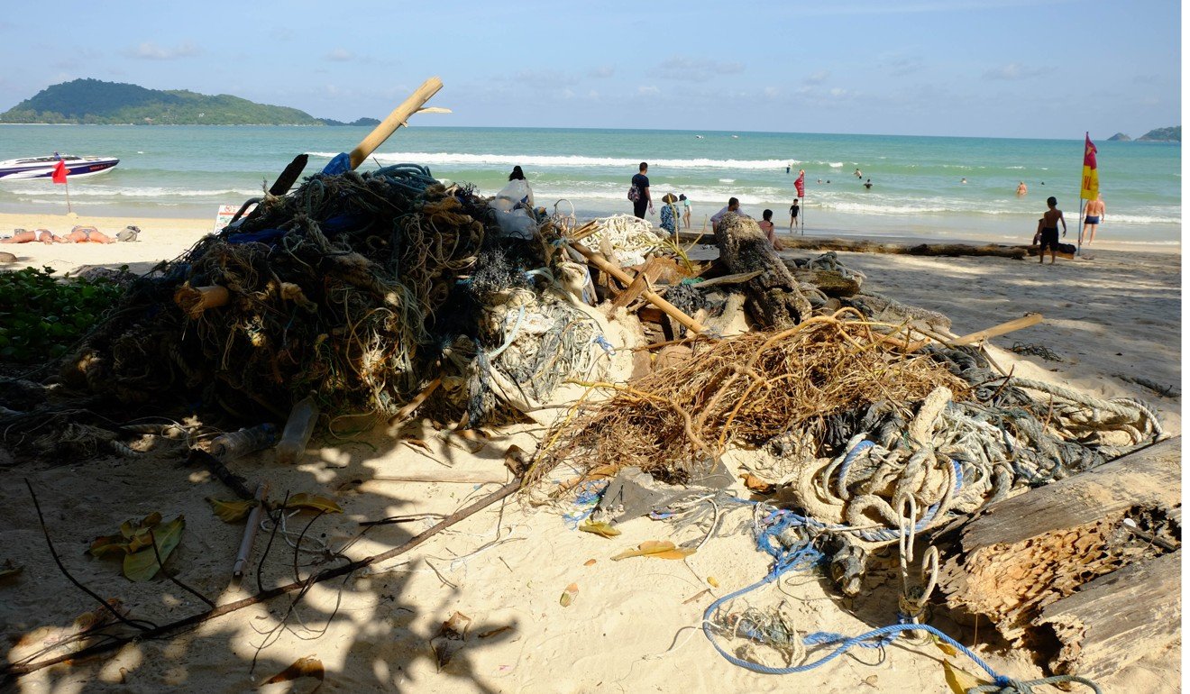
[[[1106,139],[1182,123],[1172,0],[11,2],[0,112],[68,80],[320,118]]]

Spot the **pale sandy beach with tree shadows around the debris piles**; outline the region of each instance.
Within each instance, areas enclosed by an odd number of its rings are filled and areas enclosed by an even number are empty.
[[[18,261],[0,269],[50,265],[79,273],[127,265],[143,273],[177,257],[212,227],[212,220],[202,219],[0,214],[4,233],[18,226],[61,233],[76,224],[111,233],[136,224],[140,240],[2,245],[0,250],[14,252]],[[1179,252],[1126,251],[1104,242],[1094,260],[1059,260],[1056,265],[850,252],[840,252],[839,260],[866,275],[865,290],[941,312],[958,335],[1027,312],[1042,313],[1042,324],[991,342],[997,362],[1100,398],[1142,399],[1159,412],[1167,432],[1180,433]],[[1045,348],[1053,358],[1014,354],[1014,345]],[[236,471],[253,484],[268,480],[274,493],[333,498],[344,513],[319,520],[319,542],[337,549],[357,538],[346,554],[364,557],[401,544],[439,517],[381,525],[362,536],[359,521],[449,514],[511,480],[505,451],[512,444],[532,451],[541,434],[531,425],[502,430],[471,451],[465,442],[440,438],[428,426],[414,423],[412,430],[393,432],[381,425],[324,437],[301,464],[282,467],[268,454],[239,462]],[[0,464],[0,527],[7,529],[0,564],[12,559],[24,565],[15,580],[0,582],[0,632],[11,639],[11,659],[51,644],[60,630],[95,607],[55,568],[23,477],[37,492],[46,531],[70,573],[101,596],[134,607],[140,619],[164,624],[205,606],[167,581],[130,583],[114,563],[84,557],[83,550],[96,529],[114,531],[123,520],[152,511],[167,519],[186,517],[184,539],[170,564],[187,584],[218,604],[256,590],[256,567],[243,586],[228,584],[243,526],[218,520],[203,500],[230,494],[209,474],[178,459],[174,448],[132,459]],[[384,479],[416,474],[463,481]],[[87,482],[81,484],[81,479]],[[852,651],[809,673],[785,676],[750,673],[720,657],[700,630],[703,611],[769,569],[770,557],[757,551],[746,533],[746,513],[728,515],[721,537],[685,561],[614,562],[610,557],[619,550],[669,537],[670,529],[638,518],[619,526],[621,537],[605,539],[577,532],[563,515],[572,511],[513,498],[345,583],[315,586],[287,630],[270,631],[289,605],[281,598],[168,640],[124,646],[114,657],[42,670],[20,680],[17,690],[243,692],[303,656],[321,661],[321,692],[948,690],[941,665],[946,657],[928,644]],[[288,530],[299,533],[301,526]],[[674,539],[700,534],[689,527],[682,532]],[[318,557],[295,557],[284,539],[276,539],[281,550],[258,570],[265,587],[314,570],[309,562]],[[262,545],[258,540],[258,551]],[[895,583],[877,581],[871,592],[845,599],[808,571],[787,574],[769,590],[779,590],[798,629],[858,634],[895,621]],[[559,596],[571,584],[577,593],[563,605]],[[469,620],[464,638],[440,638],[443,623],[455,613]],[[969,627],[940,626],[965,644],[977,640]],[[1178,644],[1148,654],[1098,683],[1104,692],[1178,692],[1179,650]],[[1025,652],[984,646],[978,652],[1010,676],[1040,676]],[[970,661],[950,659],[978,673]],[[317,683],[306,679],[261,689],[309,692]]]

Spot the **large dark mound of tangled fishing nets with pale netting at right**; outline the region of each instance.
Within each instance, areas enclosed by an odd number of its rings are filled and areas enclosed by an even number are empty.
[[[138,280],[62,373],[244,421],[311,393],[331,417],[392,415],[440,377],[437,414],[515,419],[497,394],[544,398],[602,351],[558,288],[568,263],[540,237],[501,237],[484,198],[422,167],[319,174]],[[226,305],[187,304],[211,288]]]

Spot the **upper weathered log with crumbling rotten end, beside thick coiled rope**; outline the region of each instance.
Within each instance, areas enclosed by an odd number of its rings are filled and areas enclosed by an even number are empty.
[[[1023,642],[1044,606],[1163,551],[1135,542],[1122,520],[1142,511],[1169,517],[1182,502],[1180,444],[1166,439],[989,506],[942,562],[947,605]]]

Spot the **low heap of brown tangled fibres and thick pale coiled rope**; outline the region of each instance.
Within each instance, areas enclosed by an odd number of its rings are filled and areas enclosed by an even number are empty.
[[[695,343],[684,363],[602,384],[613,395],[559,423],[533,474],[637,465],[685,481],[732,445],[759,448],[749,465],[803,520],[790,546],[823,531],[887,543],[904,518],[925,530],[1161,436],[1142,402],[1006,376],[973,348],[906,354],[908,336],[844,308]]]

